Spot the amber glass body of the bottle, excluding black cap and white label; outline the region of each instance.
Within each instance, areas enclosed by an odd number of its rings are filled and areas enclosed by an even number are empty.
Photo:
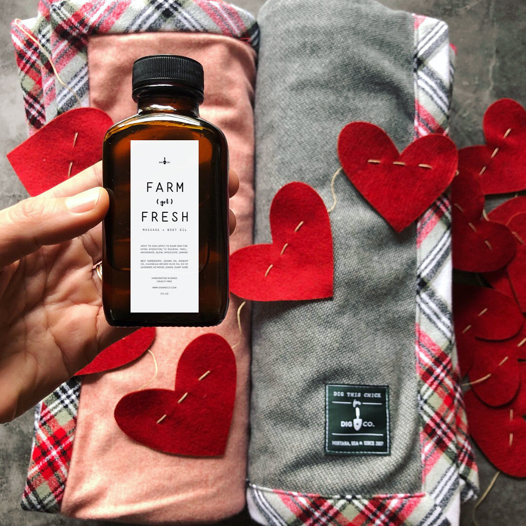
[[[104,140],[103,180],[110,199],[103,225],[106,318],[115,326],[217,325],[228,308],[226,139],[218,128],[199,118],[195,99],[151,90],[146,95],[139,98],[139,113],[110,128]],[[199,142],[199,312],[130,312],[131,140]],[[170,241],[177,233],[166,236]]]

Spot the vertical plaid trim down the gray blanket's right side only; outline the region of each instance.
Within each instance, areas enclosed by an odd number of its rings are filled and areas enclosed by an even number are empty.
[[[444,22],[414,16],[415,138],[447,133],[453,58]],[[478,492],[468,439],[451,313],[451,211],[446,195],[417,227],[417,373],[423,490],[447,514]],[[460,477],[460,478],[459,478]]]

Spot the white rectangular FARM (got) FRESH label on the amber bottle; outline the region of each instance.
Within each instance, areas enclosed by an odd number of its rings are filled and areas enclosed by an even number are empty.
[[[199,142],[130,151],[130,312],[199,312]]]

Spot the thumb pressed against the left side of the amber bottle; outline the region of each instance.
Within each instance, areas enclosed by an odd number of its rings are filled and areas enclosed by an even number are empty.
[[[39,195],[0,210],[0,269],[43,245],[73,239],[97,225],[108,211],[102,187],[71,197]]]

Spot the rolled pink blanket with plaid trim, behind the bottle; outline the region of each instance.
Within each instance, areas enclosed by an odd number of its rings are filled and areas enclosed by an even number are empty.
[[[47,5],[47,4],[46,4]],[[196,0],[166,8],[138,0],[51,3],[39,16],[13,26],[21,67],[26,115],[35,131],[57,113],[78,106],[103,109],[117,122],[136,113],[131,66],[150,54],[186,55],[204,66],[205,102],[200,115],[225,134],[230,167],[240,180],[230,207],[237,216],[231,249],[252,239],[255,62],[258,29],[248,13],[224,2]],[[79,21],[82,21],[80,23]],[[49,27],[46,27],[46,23]],[[44,98],[42,55],[19,25],[35,30],[65,88],[53,78]],[[38,31],[36,31],[38,29]],[[42,35],[48,39],[40,38]],[[36,97],[35,97],[36,94]],[[35,444],[22,506],[83,519],[177,524],[215,521],[245,505],[248,445],[249,319],[238,298],[230,299],[224,322],[215,328],[158,328],[151,353],[106,373],[72,379],[39,404]],[[234,351],[236,397],[225,453],[218,457],[167,454],[129,438],[114,410],[125,395],[143,388],[174,389],[179,358],[205,332],[225,338]],[[145,387],[146,388],[146,387]],[[140,422],[139,422],[140,424]],[[155,430],[153,430],[155,432]],[[46,458],[56,458],[52,467]]]

